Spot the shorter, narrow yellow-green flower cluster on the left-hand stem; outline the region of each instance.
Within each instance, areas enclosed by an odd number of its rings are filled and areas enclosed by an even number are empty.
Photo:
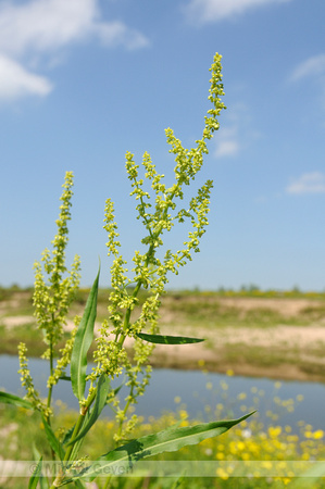
[[[51,392],[52,387],[55,385],[64,373],[65,367],[70,363],[72,348],[74,343],[76,329],[71,335],[71,338],[66,341],[64,348],[59,352],[55,352],[55,346],[62,339],[63,326],[66,324],[66,314],[68,308],[74,299],[75,291],[79,285],[79,268],[80,259],[75,256],[71,271],[67,272],[65,266],[65,248],[68,241],[67,221],[71,220],[71,199],[73,186],[73,173],[66,172],[65,180],[63,184],[63,192],[60,198],[60,214],[57,220],[58,233],[52,241],[53,250],[50,252],[46,249],[42,252],[41,263],[36,262],[35,268],[35,289],[34,289],[34,306],[35,316],[37,318],[38,327],[43,331],[43,341],[47,344],[47,350],[43,353],[43,358],[50,360],[50,376],[48,378],[48,404],[43,409],[47,418],[51,414]],[[43,268],[43,269],[42,269]],[[48,278],[48,283],[46,280]],[[77,324],[78,319],[76,319]],[[34,403],[37,409],[41,409],[42,404],[39,404],[38,394],[36,393],[32,377],[27,369],[26,361],[26,346],[21,343],[20,346],[20,359],[21,359],[21,373],[22,385],[27,390],[27,398],[34,399]],[[57,362],[54,368],[54,356],[59,353],[61,356]]]

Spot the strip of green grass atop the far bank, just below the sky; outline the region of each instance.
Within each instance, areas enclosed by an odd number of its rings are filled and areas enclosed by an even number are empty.
[[[89,289],[78,289],[75,294],[74,302],[71,305],[68,318],[73,319],[74,315],[80,314],[86,305]],[[98,314],[97,319],[100,322],[108,315],[108,298],[112,289],[99,288],[98,290]],[[30,315],[33,316],[33,289],[1,289],[0,317]],[[148,298],[146,290],[138,292],[138,303],[135,308],[140,311],[140,308]],[[255,299],[252,309],[245,311],[241,303],[238,301],[228,304],[227,299]],[[299,311],[299,314],[291,316],[282,314],[282,300],[285,303],[286,299],[295,299],[297,303],[299,300],[308,300],[310,304]],[[259,299],[278,299],[277,311],[267,306],[267,302],[259,305]],[[323,302],[324,301],[324,302]],[[291,291],[277,292],[270,296],[270,291],[261,292],[259,296],[242,294],[241,292],[198,292],[198,291],[168,291],[162,298],[161,315],[172,316],[175,319],[182,319],[186,323],[203,323],[208,325],[228,325],[234,324],[243,326],[251,325],[254,327],[272,326],[277,324],[288,325],[307,325],[312,321],[318,321],[325,315],[325,293],[323,292],[304,292],[299,296],[291,296]],[[179,317],[180,316],[180,317]],[[1,322],[1,318],[0,318]],[[33,319],[32,319],[33,322]]]

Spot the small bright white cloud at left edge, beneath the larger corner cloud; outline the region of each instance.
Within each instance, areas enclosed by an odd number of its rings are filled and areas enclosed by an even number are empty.
[[[26,95],[47,96],[51,89],[46,78],[28,73],[15,61],[0,54],[0,100]]]

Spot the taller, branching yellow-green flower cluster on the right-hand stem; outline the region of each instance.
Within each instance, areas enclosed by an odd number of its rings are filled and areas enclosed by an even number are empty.
[[[199,188],[197,195],[190,199],[188,209],[177,210],[177,206],[179,201],[184,200],[185,186],[190,185],[202,167],[203,154],[208,153],[207,140],[211,139],[213,133],[218,128],[217,116],[221,110],[225,109],[221,101],[221,97],[224,95],[221,70],[221,55],[216,53],[210,68],[212,77],[209,100],[212,102],[213,109],[210,109],[208,116],[204,117],[202,138],[196,141],[197,146],[186,149],[171,128],[165,130],[167,143],[171,146],[170,152],[175,155],[176,162],[175,183],[172,187],[165,185],[164,175],[157,172],[148,152],[142,158],[142,176],[139,165],[135,163],[134,154],[126,153],[125,166],[133,188],[130,196],[134,196],[137,201],[137,218],[141,221],[146,229],[146,235],[141,240],[146,250],[145,252],[135,251],[132,278],[128,276],[127,263],[120,252],[121,243],[114,205],[110,199],[107,200],[104,214],[104,229],[109,236],[107,248],[108,254],[114,256],[111,266],[110,322],[104,322],[102,325],[101,336],[97,340],[98,348],[95,352],[97,365],[89,378],[93,383],[103,372],[113,377],[121,372],[122,367],[125,369],[130,388],[130,393],[126,398],[126,408],[120,410],[116,398],[112,400],[121,427],[126,418],[126,409],[130,403],[136,402],[137,396],[143,392],[150,375],[150,372],[147,371],[142,381],[137,380],[138,374],[148,362],[152,346],[137,338],[136,335],[143,329],[147,333],[158,330],[160,297],[164,292],[167,275],[168,273],[178,274],[178,268],[192,259],[192,252],[200,251],[200,239],[208,225],[211,180]],[[150,184],[149,189],[146,184]],[[167,249],[162,252],[163,235],[172,230],[175,222],[190,223],[191,229],[184,241],[184,248],[175,251]],[[139,311],[138,292],[141,287],[148,291],[148,294]],[[127,336],[136,338],[134,356],[136,366],[132,366],[125,352],[124,341]],[[125,434],[121,428],[116,439],[121,439],[123,432]]]

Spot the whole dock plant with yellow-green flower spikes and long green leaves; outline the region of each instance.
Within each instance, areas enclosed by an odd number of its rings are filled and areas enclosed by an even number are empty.
[[[174,131],[171,128],[165,129],[170,153],[174,155],[176,163],[171,187],[167,187],[164,175],[158,173],[149,153],[143,154],[141,166],[135,162],[134,154],[126,153],[125,167],[132,185],[130,196],[136,200],[137,218],[143,226],[143,238],[135,251],[133,264],[128,265],[121,253],[114,204],[108,199],[103,227],[108,234],[108,255],[113,259],[110,268],[108,316],[95,334],[100,275],[98,272],[83,317],[75,318],[75,328],[65,346],[59,349],[58,344],[64,336],[66,315],[78,288],[80,266],[78,256],[70,271],[65,265],[73,173],[65,174],[57,221],[58,233],[52,241],[53,249],[45,250],[41,262],[35,264],[34,306],[38,328],[43,334],[43,358],[49,361],[48,397],[42,400],[34,387],[24,343],[18,346],[18,372],[26,396],[22,399],[5,392],[0,394],[2,402],[39,413],[49,442],[51,461],[59,464],[55,474],[45,474],[45,455],[35,448],[35,456],[38,460],[29,480],[30,488],[36,488],[37,485],[51,489],[65,485],[86,487],[87,481],[103,477],[100,474],[112,474],[114,467],[132,467],[145,457],[175,451],[218,436],[251,414],[239,419],[215,421],[195,426],[176,424],[162,431],[132,439],[137,417],[129,415],[129,412],[138,396],[143,394],[149,381],[149,359],[154,344],[164,343],[167,349],[168,344],[203,341],[201,338],[160,335],[158,319],[160,300],[165,291],[168,275],[177,275],[179,268],[192,260],[193,253],[200,251],[200,240],[208,225],[211,179],[188,198],[188,205],[183,206],[183,202],[187,201],[187,187],[190,187],[202,168],[203,156],[208,154],[207,142],[218,129],[217,116],[225,109],[221,100],[224,90],[220,54],[215,54],[210,71],[209,101],[212,106],[204,117],[202,137],[196,141],[195,148],[184,148]],[[173,231],[175,225],[183,226],[187,231],[183,248],[165,249],[164,237]],[[140,289],[146,291],[142,303],[139,301]],[[126,339],[133,342],[132,355],[128,355],[126,350]],[[87,371],[91,344],[93,367]],[[121,385],[113,388],[112,381],[116,378],[122,379]],[[52,392],[59,381],[71,383],[79,403],[75,424],[65,431],[58,431],[52,427]],[[120,402],[122,387],[128,390],[124,404]],[[82,443],[87,448],[87,434],[107,404],[112,408],[116,417],[117,428],[113,437],[115,447],[104,454],[99,454],[96,461],[84,460],[79,455]],[[109,484],[110,477],[107,476],[104,487]]]

